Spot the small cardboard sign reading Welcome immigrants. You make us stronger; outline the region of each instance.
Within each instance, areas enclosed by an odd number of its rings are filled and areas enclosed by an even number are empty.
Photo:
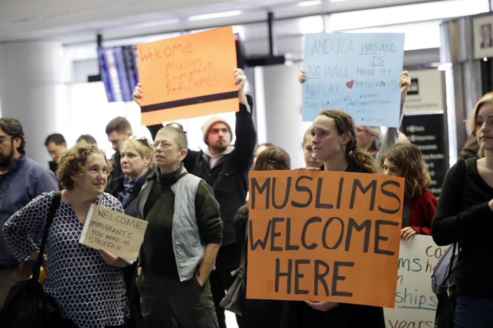
[[[147,221],[91,204],[79,242],[105,249],[127,261],[136,261]]]

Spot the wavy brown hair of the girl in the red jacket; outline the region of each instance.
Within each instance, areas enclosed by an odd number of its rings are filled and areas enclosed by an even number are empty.
[[[380,158],[381,167],[383,167],[386,158],[394,162],[401,170],[401,176],[406,181],[406,197],[421,194],[430,185],[430,175],[418,147],[413,144],[393,145]]]

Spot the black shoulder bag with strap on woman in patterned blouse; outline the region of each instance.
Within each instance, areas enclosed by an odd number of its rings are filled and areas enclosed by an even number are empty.
[[[62,315],[55,302],[44,293],[40,277],[48,230],[56,210],[60,206],[61,192],[55,192],[43,230],[43,240],[32,277],[16,282],[9,290],[2,310],[0,327],[2,328],[48,328],[62,327]]]

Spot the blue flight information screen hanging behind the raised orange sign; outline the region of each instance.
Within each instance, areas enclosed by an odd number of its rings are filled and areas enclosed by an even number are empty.
[[[99,48],[98,55],[108,101],[132,100],[132,91],[139,81],[137,47]]]

